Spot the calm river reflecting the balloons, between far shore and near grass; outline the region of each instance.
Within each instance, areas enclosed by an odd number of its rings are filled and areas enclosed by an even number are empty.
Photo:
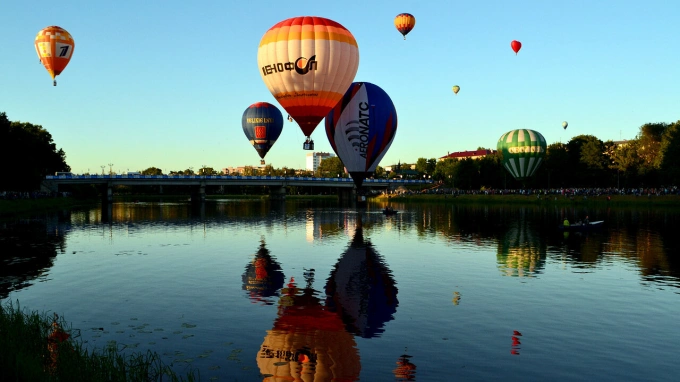
[[[680,213],[391,205],[5,219],[0,301],[201,380],[676,380]],[[557,229],[585,214],[603,228]]]

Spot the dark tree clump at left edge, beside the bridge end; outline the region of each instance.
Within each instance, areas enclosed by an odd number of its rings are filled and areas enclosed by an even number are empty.
[[[40,125],[10,121],[0,113],[0,161],[7,169],[0,177],[0,191],[34,191],[45,175],[71,171],[64,150]]]

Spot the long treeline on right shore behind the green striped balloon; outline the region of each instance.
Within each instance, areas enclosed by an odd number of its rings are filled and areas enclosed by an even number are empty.
[[[677,186],[680,121],[645,124],[635,139],[627,141],[603,142],[593,135],[578,135],[566,144],[553,143],[541,167],[524,182],[502,167],[502,159],[500,152],[481,159],[419,158],[415,171],[416,176],[460,189]]]

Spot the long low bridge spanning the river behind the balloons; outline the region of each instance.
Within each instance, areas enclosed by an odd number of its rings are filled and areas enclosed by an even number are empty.
[[[403,185],[429,184],[431,179],[365,179],[363,187],[368,189],[396,189]],[[205,200],[206,186],[268,186],[270,196],[274,199],[285,199],[287,187],[327,187],[338,190],[340,197],[356,195],[356,186],[351,178],[316,178],[299,176],[239,176],[239,175],[48,175],[42,181],[41,189],[58,192],[60,185],[98,185],[102,189],[102,197],[107,202],[113,201],[113,187],[124,186],[188,186],[192,188],[192,200]]]

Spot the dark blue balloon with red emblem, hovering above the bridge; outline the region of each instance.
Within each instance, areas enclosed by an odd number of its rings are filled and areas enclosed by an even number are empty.
[[[243,112],[241,126],[250,144],[260,154],[262,159],[260,163],[264,164],[264,156],[267,155],[283,130],[283,115],[276,106],[270,103],[256,102]]]

